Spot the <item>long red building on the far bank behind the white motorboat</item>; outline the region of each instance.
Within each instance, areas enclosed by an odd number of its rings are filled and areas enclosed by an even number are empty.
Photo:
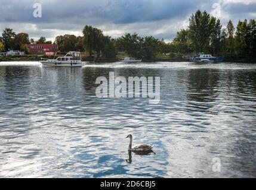
[[[55,44],[27,44],[27,47],[29,48],[29,53],[54,55],[55,52],[58,52],[58,45]]]

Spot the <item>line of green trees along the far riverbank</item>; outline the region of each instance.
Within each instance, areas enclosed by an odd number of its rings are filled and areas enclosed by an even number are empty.
[[[136,58],[182,57],[204,52],[228,58],[252,58],[256,52],[256,22],[243,20],[235,28],[232,21],[226,27],[220,19],[212,17],[206,11],[196,11],[189,18],[189,27],[177,32],[172,42],[153,36],[141,37],[137,33],[125,33],[113,39],[103,31],[92,26],[85,26],[83,36],[64,34],[47,41],[40,37],[35,41],[29,34],[16,34],[12,29],[5,29],[0,37],[0,52],[9,49],[26,50],[27,43],[55,43],[61,52],[71,50],[85,51],[88,56],[115,58],[116,55],[128,55]]]

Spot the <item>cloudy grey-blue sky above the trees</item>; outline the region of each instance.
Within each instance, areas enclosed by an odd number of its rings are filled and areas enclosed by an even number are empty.
[[[41,18],[33,16],[36,3],[42,5]],[[219,17],[223,26],[229,19],[236,24],[256,18],[256,0],[0,0],[0,5],[1,31],[10,27],[49,40],[82,35],[82,28],[92,25],[112,37],[136,32],[171,41],[197,9]]]

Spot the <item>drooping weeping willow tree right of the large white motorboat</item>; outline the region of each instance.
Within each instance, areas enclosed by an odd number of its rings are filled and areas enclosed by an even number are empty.
[[[105,37],[100,29],[85,26],[82,32],[84,34],[84,49],[89,52],[90,56],[92,56],[92,52],[100,53],[104,49]]]

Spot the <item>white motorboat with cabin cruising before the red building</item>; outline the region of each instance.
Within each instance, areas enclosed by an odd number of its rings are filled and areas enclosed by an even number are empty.
[[[63,57],[58,57],[57,59],[41,59],[41,64],[43,66],[82,66],[82,59],[80,52],[69,52]]]

